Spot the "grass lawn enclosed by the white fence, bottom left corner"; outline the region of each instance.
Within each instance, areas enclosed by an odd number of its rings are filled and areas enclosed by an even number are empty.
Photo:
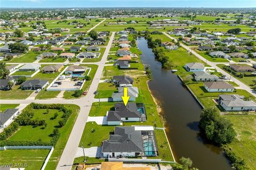
[[[25,169],[41,169],[49,149],[7,149],[1,150],[1,164],[27,164]]]

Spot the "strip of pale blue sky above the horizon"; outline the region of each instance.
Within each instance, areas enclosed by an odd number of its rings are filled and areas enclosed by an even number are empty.
[[[256,7],[255,0],[0,0],[0,7]]]

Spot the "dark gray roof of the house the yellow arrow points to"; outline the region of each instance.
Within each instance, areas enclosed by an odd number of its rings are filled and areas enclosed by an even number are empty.
[[[121,121],[121,117],[141,117],[136,103],[129,102],[126,106],[123,103],[115,104],[115,111],[108,112],[107,121]]]

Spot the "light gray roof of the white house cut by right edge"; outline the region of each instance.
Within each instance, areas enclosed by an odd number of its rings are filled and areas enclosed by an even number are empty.
[[[244,96],[239,95],[219,95],[223,104],[227,107],[256,107],[253,101],[243,100]]]

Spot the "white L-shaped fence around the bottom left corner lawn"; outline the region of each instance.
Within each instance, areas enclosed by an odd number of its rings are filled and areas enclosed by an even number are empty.
[[[51,155],[52,152],[54,150],[53,146],[4,146],[4,147],[0,147],[0,150],[6,150],[6,149],[51,149],[49,154],[47,155],[47,157],[44,160],[44,164],[41,168],[41,170],[44,170]]]

